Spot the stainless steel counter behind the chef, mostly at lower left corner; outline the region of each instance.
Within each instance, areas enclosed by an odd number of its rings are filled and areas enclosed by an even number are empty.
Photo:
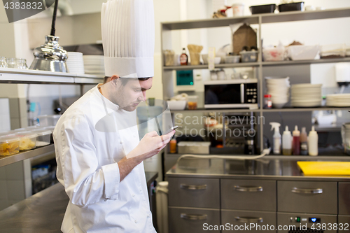
[[[158,172],[146,172],[147,186]],[[69,198],[57,183],[0,211],[1,233],[59,233]]]

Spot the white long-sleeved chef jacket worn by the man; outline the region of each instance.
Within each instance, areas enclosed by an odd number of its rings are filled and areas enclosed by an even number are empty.
[[[143,162],[120,182],[117,162],[139,143],[136,120],[96,86],[57,122],[57,179],[69,196],[62,232],[155,232]]]

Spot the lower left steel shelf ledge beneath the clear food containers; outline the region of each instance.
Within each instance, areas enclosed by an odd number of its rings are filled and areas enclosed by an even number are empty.
[[[13,164],[22,160],[30,159],[31,157],[36,157],[38,155],[48,155],[55,152],[55,146],[53,144],[49,146],[43,146],[41,148],[36,148],[34,150],[28,150],[25,152],[18,153],[17,155],[0,156],[0,167],[6,166],[8,164]]]

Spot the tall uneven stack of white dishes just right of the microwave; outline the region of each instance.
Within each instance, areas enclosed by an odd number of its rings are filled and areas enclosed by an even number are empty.
[[[265,77],[265,79],[267,83],[267,94],[271,94],[272,106],[274,108],[283,108],[289,100],[289,77]]]

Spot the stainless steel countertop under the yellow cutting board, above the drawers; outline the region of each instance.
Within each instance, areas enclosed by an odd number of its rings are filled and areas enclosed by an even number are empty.
[[[304,176],[300,160],[224,160],[185,157],[167,171],[167,177],[242,178],[302,181],[350,181],[350,176]],[[338,160],[341,161],[341,160]]]

